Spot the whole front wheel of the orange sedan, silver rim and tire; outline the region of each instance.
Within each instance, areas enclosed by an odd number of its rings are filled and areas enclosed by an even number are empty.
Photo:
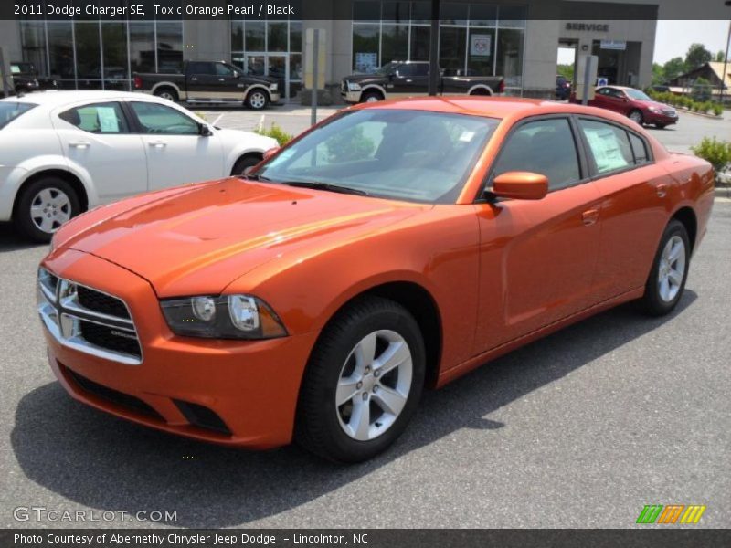
[[[366,297],[325,328],[307,366],[296,438],[324,458],[359,462],[390,446],[418,405],[426,364],[411,314]]]

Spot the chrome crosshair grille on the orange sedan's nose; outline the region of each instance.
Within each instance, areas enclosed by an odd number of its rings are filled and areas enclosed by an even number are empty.
[[[38,269],[38,313],[64,346],[121,364],[139,365],[142,346],[123,300]]]

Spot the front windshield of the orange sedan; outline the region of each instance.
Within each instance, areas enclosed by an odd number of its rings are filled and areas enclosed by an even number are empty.
[[[284,148],[256,176],[275,183],[319,184],[328,190],[450,204],[498,123],[430,111],[346,112]]]

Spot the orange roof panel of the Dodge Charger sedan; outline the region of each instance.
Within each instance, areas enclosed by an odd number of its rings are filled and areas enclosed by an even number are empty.
[[[561,112],[577,112],[614,118],[608,111],[585,107],[572,103],[542,99],[521,99],[516,97],[484,97],[479,95],[451,97],[414,97],[409,99],[384,100],[372,103],[361,103],[350,107],[360,109],[406,109],[413,111],[433,111],[453,114],[471,114],[488,118],[508,118],[516,116],[535,116]],[[609,113],[611,114],[611,113]]]

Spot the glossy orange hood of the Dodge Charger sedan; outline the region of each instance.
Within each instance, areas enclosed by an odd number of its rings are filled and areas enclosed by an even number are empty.
[[[58,248],[111,261],[160,297],[219,293],[323,238],[358,237],[423,206],[228,178],[102,206],[65,225]]]

